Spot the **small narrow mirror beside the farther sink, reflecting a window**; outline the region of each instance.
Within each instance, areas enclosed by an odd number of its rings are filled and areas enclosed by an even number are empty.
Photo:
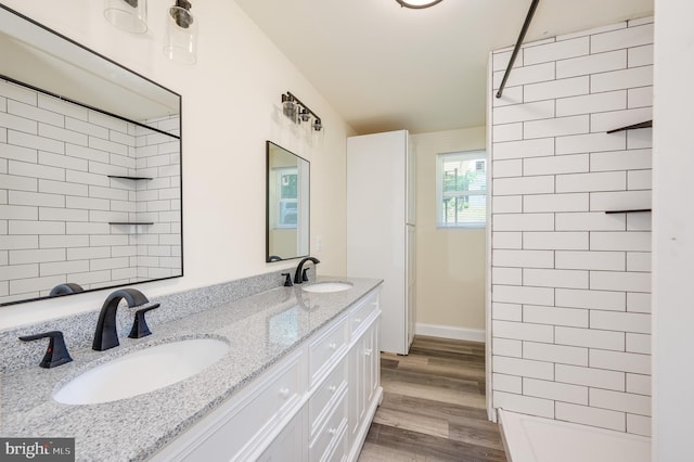
[[[266,147],[266,261],[308,256],[309,163],[271,141]]]

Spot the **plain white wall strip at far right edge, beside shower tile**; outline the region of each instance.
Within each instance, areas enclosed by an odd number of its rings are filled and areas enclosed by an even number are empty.
[[[694,2],[655,1],[653,460],[694,460]]]

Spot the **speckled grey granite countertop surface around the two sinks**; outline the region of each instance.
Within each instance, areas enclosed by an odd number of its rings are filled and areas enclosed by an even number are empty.
[[[70,350],[74,361],[57,368],[41,369],[36,358],[37,365],[2,376],[0,435],[74,437],[77,460],[144,460],[381,284],[372,279],[319,278],[319,282],[336,280],[354,286],[323,294],[301,291],[298,285],[278,287],[165,324],[151,324],[152,335],[121,336],[120,346],[106,351]],[[70,406],[52,399],[57,387],[113,358],[201,337],[223,338],[230,349],[187,380],[101,405]]]

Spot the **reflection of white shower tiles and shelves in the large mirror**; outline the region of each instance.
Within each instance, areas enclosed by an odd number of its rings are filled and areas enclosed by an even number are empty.
[[[180,273],[178,141],[0,80],[0,303]]]

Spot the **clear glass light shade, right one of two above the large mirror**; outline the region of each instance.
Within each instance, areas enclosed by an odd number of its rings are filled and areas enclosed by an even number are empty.
[[[197,21],[184,8],[171,7],[167,12],[164,54],[177,63],[197,62]]]

